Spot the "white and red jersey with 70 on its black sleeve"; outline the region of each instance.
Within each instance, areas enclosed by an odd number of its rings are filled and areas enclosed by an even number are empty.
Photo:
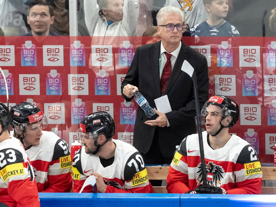
[[[73,159],[73,192],[79,192],[91,172],[99,173],[107,185],[106,193],[153,193],[141,154],[132,145],[112,139],[116,144],[114,161],[109,166],[101,164],[99,156],[85,153],[84,146]],[[85,187],[83,192],[93,192]]]

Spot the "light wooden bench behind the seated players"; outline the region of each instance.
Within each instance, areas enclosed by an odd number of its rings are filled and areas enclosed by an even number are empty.
[[[149,180],[166,180],[168,166],[147,166]],[[262,194],[276,194],[276,187],[265,187],[266,181],[276,182],[276,167],[262,167]],[[166,186],[153,186],[155,193],[167,193]]]

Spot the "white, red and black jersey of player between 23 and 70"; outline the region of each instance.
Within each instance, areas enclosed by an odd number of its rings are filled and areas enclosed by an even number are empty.
[[[68,144],[53,132],[42,131],[40,143],[26,150],[39,192],[63,193],[72,189]]]

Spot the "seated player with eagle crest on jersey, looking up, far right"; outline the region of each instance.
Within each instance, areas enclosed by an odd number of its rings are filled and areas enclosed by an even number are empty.
[[[229,134],[239,119],[238,104],[227,96],[212,96],[201,113],[206,126],[202,132],[205,163],[200,159],[198,134],[185,137],[170,164],[168,193],[260,194],[262,168],[254,147]]]

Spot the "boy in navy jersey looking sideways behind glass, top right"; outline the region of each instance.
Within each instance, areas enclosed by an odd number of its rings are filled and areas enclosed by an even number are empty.
[[[202,2],[208,12],[208,19],[191,27],[191,36],[239,36],[237,28],[224,20],[229,10],[228,0],[202,0]]]

